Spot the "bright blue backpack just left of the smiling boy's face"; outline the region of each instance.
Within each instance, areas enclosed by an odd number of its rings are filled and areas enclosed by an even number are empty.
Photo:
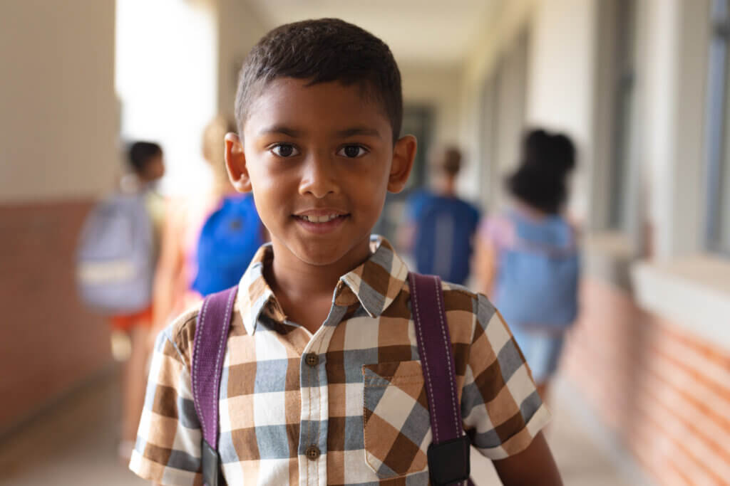
[[[261,227],[252,195],[224,197],[200,232],[193,290],[205,296],[237,285],[264,244]]]

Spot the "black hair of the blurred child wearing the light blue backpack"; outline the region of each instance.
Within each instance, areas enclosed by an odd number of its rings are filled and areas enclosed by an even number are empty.
[[[507,188],[524,203],[556,214],[568,197],[566,179],[573,168],[575,146],[570,138],[531,130],[523,141],[520,166],[507,178]]]

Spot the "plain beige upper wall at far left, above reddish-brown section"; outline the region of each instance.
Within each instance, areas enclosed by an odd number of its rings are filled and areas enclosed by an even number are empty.
[[[0,2],[0,202],[110,187],[114,10],[114,0]]]

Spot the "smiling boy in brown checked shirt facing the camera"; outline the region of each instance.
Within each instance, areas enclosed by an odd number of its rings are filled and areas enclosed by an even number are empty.
[[[364,420],[364,403],[383,391],[364,386],[365,367],[382,374],[395,362],[393,386],[423,390],[408,270],[370,235],[416,148],[412,136],[399,138],[393,55],[342,20],[281,26],[248,55],[236,110],[228,173],[239,191],[253,191],[272,243],[239,284],[226,343],[218,442],[226,482],[429,484],[430,426],[402,417],[404,393],[383,394],[382,420]],[[499,313],[466,289],[443,290],[472,443],[506,485],[560,484],[539,434],[548,412]],[[190,385],[197,315],[158,337],[130,463],[168,485],[201,484]],[[386,441],[393,432],[423,441]]]

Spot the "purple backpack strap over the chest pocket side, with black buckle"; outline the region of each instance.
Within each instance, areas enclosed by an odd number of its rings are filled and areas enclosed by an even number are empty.
[[[411,313],[418,355],[426,381],[433,442],[429,473],[434,485],[463,485],[469,479],[469,437],[461,423],[451,337],[446,321],[441,280],[436,275],[408,275]]]

